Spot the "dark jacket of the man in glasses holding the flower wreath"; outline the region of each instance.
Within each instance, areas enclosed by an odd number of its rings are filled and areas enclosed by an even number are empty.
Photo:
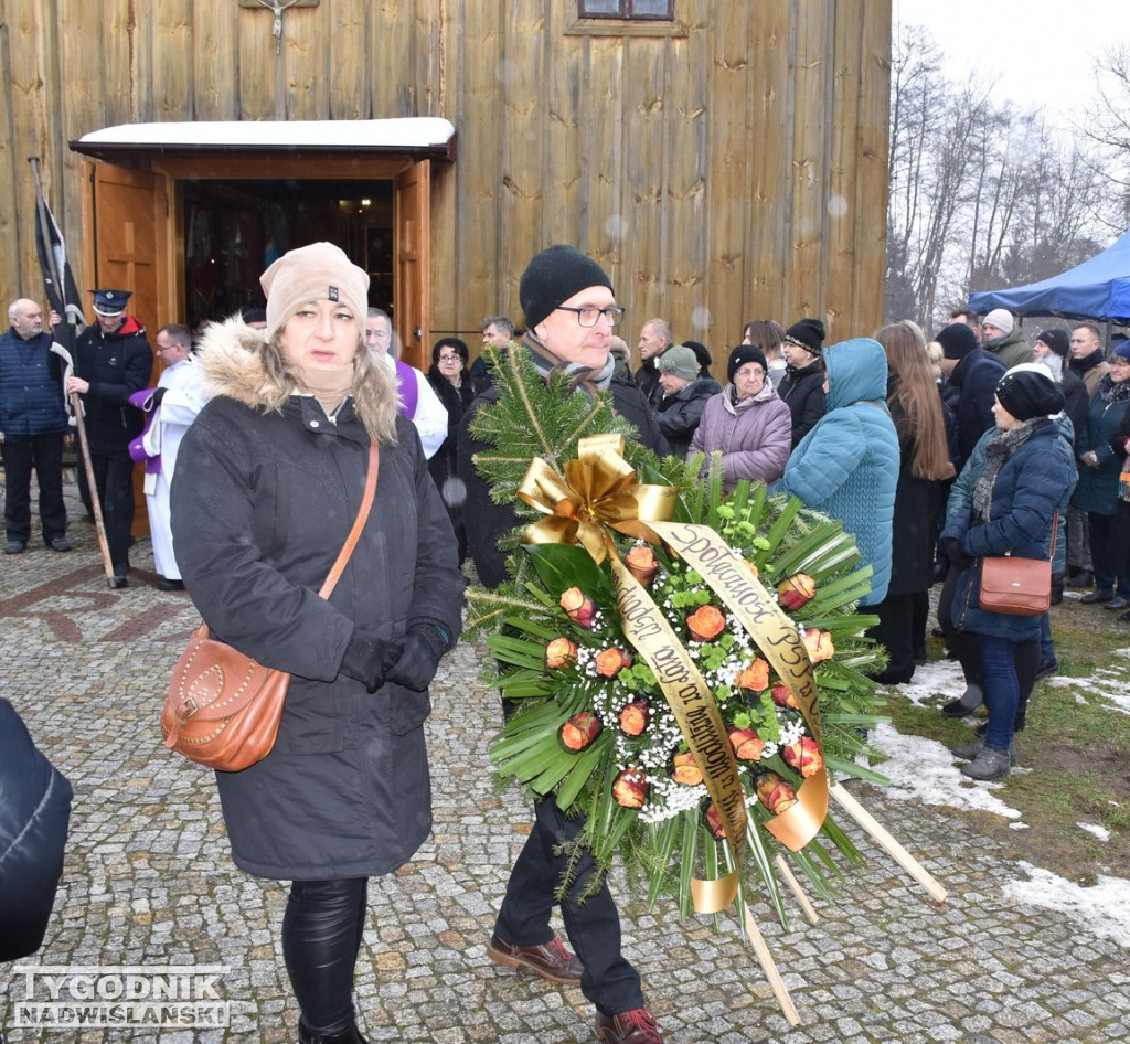
[[[635,425],[640,442],[657,456],[668,451],[667,442],[659,430],[643,392],[627,381],[612,377],[609,391],[617,414]],[[577,392],[576,394],[584,394]],[[484,407],[497,402],[498,390],[492,388],[477,397],[463,414],[459,429],[458,473],[467,490],[463,519],[467,527],[467,549],[475,563],[479,583],[485,588],[497,588],[506,580],[506,555],[498,550],[498,540],[519,524],[512,503],[496,504],[490,499],[490,487],[475,468],[475,454],[488,449],[488,444],[475,438],[470,423]]]

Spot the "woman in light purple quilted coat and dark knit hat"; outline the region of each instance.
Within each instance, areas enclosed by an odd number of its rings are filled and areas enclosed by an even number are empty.
[[[722,454],[722,480],[727,493],[739,479],[775,482],[784,473],[792,450],[792,415],[777,397],[765,354],[753,345],[738,345],[727,366],[729,383],[706,402],[703,419],[690,441],[688,456],[705,453],[703,473],[711,454]]]

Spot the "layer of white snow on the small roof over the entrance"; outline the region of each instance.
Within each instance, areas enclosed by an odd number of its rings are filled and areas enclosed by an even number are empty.
[[[121,123],[90,131],[71,148],[402,150],[446,154],[455,128],[440,116],[398,120],[228,120]]]

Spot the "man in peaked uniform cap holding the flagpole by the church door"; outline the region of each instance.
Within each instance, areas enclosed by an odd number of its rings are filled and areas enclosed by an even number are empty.
[[[97,323],[82,331],[75,345],[75,374],[67,391],[82,398],[82,411],[94,481],[106,528],[114,588],[129,586],[130,527],[133,522],[133,459],[130,441],[141,434],[141,411],[130,395],[149,386],[153,349],[145,327],[125,314],[130,290],[94,292]],[[79,491],[90,504],[86,469],[78,469]]]

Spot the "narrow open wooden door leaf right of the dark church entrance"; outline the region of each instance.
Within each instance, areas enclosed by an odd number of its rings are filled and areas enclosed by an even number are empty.
[[[392,322],[405,362],[425,372],[432,365],[431,202],[432,162],[421,159],[395,177]]]

